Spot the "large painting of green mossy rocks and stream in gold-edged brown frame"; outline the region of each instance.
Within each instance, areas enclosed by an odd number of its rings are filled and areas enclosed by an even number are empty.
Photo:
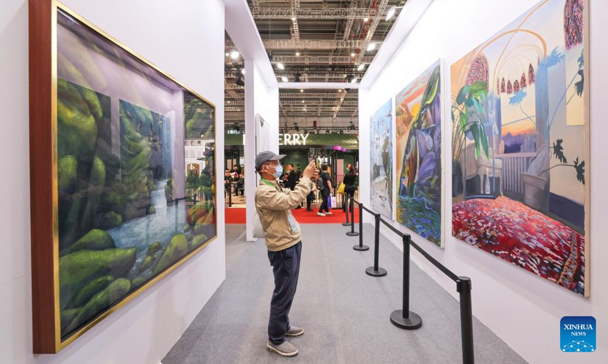
[[[33,349],[54,353],[216,236],[215,106],[30,1]]]

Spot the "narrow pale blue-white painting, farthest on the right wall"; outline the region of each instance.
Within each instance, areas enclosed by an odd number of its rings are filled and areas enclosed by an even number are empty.
[[[371,207],[393,218],[393,101],[370,118]]]

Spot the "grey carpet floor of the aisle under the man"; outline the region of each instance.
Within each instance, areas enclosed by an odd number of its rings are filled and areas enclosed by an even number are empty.
[[[353,251],[358,237],[339,224],[302,225],[302,266],[289,318],[305,334],[290,339],[300,353],[283,358],[265,349],[273,278],[263,241],[244,238],[244,225],[226,226],[226,280],[201,310],[163,364],[198,363],[460,363],[458,302],[412,265],[410,309],[422,328],[389,322],[401,308],[402,252],[381,237],[385,277],[365,274],[373,249]],[[373,245],[373,228],[364,227]],[[474,287],[474,286],[473,286]],[[481,292],[473,291],[475,294]],[[477,363],[525,363],[476,318]]]

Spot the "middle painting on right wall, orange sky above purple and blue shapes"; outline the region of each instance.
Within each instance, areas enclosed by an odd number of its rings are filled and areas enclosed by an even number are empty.
[[[398,223],[442,244],[441,61],[395,96]]]

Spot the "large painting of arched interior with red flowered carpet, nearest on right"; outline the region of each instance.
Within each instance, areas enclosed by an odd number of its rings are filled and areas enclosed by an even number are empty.
[[[452,65],[452,232],[589,295],[583,0],[545,0]]]

